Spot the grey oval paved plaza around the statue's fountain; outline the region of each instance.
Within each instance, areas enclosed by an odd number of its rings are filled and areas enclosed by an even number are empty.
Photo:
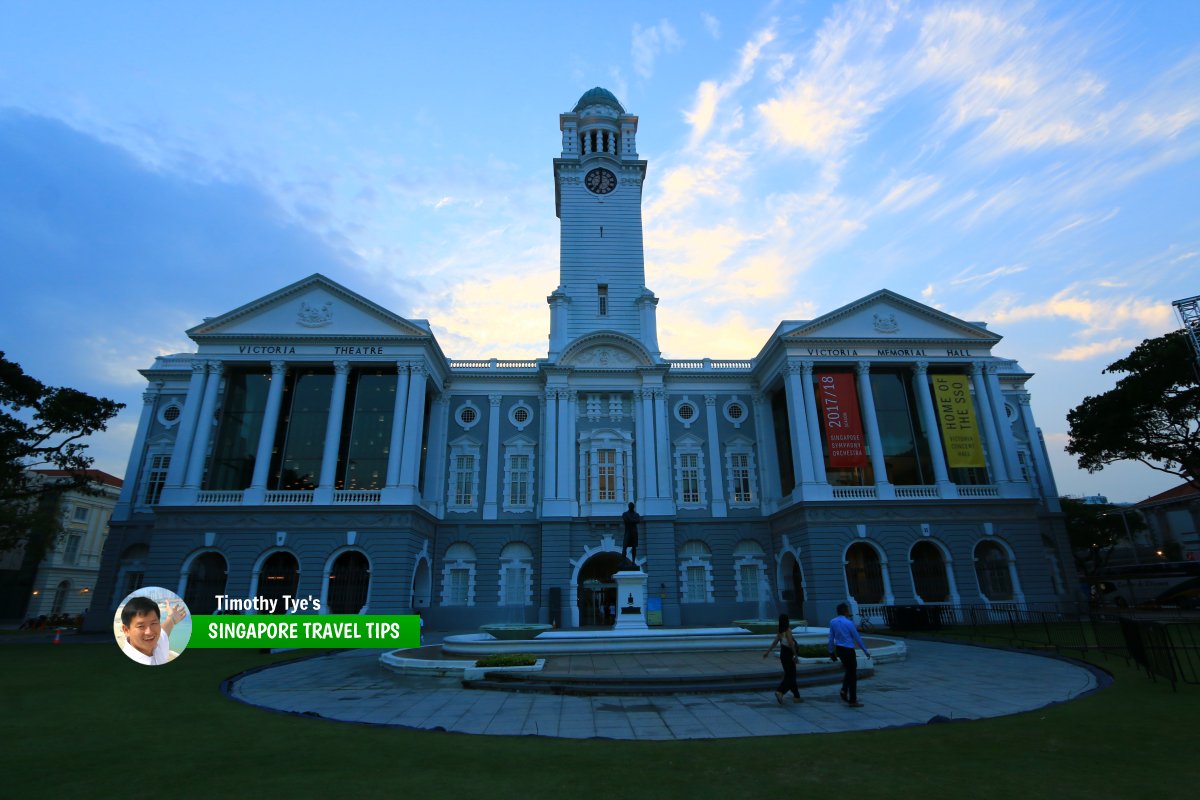
[[[228,686],[265,709],[342,722],[487,735],[570,739],[722,739],[869,730],[1031,711],[1102,687],[1088,667],[1061,658],[910,639],[908,658],[859,681],[864,708],[836,685],[802,688],[803,703],[772,692],[596,696],[479,691],[394,674],[378,650],[350,650],[268,667]],[[547,670],[580,674],[744,674],[774,669],[761,654],[631,654],[551,658]]]

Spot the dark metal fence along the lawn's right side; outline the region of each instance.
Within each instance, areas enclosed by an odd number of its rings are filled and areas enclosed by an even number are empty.
[[[893,631],[941,631],[1058,654],[1118,657],[1154,680],[1200,684],[1200,618],[1175,609],[1038,609],[1016,604],[887,606]]]

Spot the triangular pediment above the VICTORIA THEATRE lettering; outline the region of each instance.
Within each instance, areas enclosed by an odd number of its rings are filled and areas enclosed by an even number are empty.
[[[187,331],[193,339],[271,336],[422,337],[430,331],[350,291],[323,275],[206,319]]]

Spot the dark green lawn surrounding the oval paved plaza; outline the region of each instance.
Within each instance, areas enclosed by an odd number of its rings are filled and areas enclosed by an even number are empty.
[[[473,736],[306,720],[226,699],[295,654],[0,646],[5,798],[1194,798],[1200,687],[1116,658],[1112,688],[982,722],[696,742]],[[869,692],[870,684],[864,688]]]

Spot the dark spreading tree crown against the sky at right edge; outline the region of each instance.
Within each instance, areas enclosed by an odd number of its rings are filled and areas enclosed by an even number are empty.
[[[1138,461],[1200,489],[1200,379],[1184,331],[1146,339],[1104,372],[1117,385],[1067,414],[1067,452],[1096,473]]]

